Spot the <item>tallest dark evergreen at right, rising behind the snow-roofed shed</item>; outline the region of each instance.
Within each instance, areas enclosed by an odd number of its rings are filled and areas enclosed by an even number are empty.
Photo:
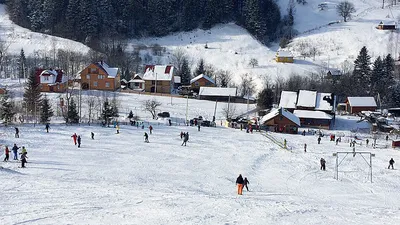
[[[353,79],[354,88],[359,95],[369,95],[371,82],[371,57],[364,46],[354,61]]]

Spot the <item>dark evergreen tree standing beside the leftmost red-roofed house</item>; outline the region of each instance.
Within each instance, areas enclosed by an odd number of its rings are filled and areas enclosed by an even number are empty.
[[[28,82],[24,92],[24,102],[29,113],[35,114],[39,110],[42,94],[40,93],[39,80],[35,71],[32,71],[28,77]]]

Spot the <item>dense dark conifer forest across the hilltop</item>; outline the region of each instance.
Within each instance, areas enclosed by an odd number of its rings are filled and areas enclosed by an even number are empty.
[[[4,1],[4,0],[3,0]],[[103,38],[163,36],[236,22],[266,43],[277,37],[274,0],[5,0],[16,24],[88,45]]]

